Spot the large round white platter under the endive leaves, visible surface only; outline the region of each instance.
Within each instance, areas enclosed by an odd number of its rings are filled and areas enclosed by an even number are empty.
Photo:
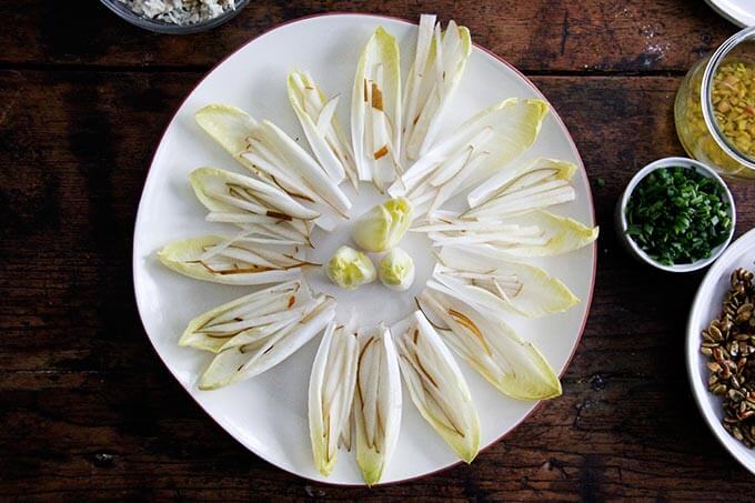
[[[250,290],[181,276],[162,266],[155,252],[175,239],[223,230],[222,225],[204,221],[205,210],[197,201],[187,178],[192,170],[210,165],[243,172],[243,168],[200,130],[194,112],[209,103],[232,104],[258,119],[272,120],[293,138],[304,141],[285,91],[288,73],[301,69],[312,72],[329,95],[344,95],[339,120],[344,131],[349,131],[345,104],[350,102],[356,61],[363,44],[381,24],[399,40],[405,76],[414,54],[416,26],[378,16],[326,14],[290,22],[250,41],[222,61],[187,97],[168,125],[144,184],[134,230],[133,275],[139,312],[150,341],[175,379],[211,418],[259,456],[298,475],[340,484],[362,484],[353,455],[341,452],[332,475],[323,479],[314,467],[310,447],[306,390],[319,338],[262,375],[217,391],[199,391],[195,382],[210,356],[179,348],[180,334],[192,318]],[[542,94],[516,69],[475,47],[445,115],[445,132],[477,110],[511,97],[542,98]],[[555,111],[545,119],[540,138],[526,153],[527,159],[538,155],[567,160],[580,167],[574,179],[576,201],[554,211],[594,225],[584,167]],[[358,215],[380,199],[363,183],[360,195],[352,197],[355,207],[352,214]],[[225,233],[232,232],[229,228]],[[316,249],[311,256],[324,260],[339,244],[349,243],[349,234],[348,225],[329,234],[320,232],[314,237]],[[315,290],[335,293],[340,313],[355,306],[360,325],[393,323],[414,310],[413,295],[421,290],[432,268],[432,254],[423,239],[405,238],[401,245],[417,263],[417,283],[409,292],[395,293],[374,283],[344,295],[320,273],[310,278],[311,284]],[[536,262],[568,285],[582,302],[554,316],[511,320],[558,374],[565,371],[584,329],[595,279],[595,245],[591,245]],[[483,446],[513,430],[537,405],[502,395],[469,366],[463,363],[461,366],[479,410]],[[404,398],[397,449],[382,483],[422,476],[459,461],[422,420],[406,390]]]

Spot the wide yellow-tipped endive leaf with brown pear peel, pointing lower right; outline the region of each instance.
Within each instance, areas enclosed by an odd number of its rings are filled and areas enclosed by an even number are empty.
[[[431,280],[429,282],[433,283]],[[561,395],[561,381],[547,361],[523,341],[500,316],[482,315],[452,291],[427,289],[420,295],[423,308],[451,330],[441,331],[449,346],[502,393],[517,400],[544,400]]]

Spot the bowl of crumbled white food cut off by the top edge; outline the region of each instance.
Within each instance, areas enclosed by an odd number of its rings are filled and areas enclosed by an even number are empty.
[[[101,0],[121,19],[158,33],[188,34],[229,21],[249,0]]]

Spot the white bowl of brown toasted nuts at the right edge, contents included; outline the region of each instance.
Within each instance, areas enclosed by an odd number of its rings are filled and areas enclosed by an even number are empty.
[[[708,270],[689,313],[687,372],[716,439],[755,474],[755,230]]]

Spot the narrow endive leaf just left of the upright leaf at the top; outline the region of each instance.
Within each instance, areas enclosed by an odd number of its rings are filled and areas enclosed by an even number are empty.
[[[320,164],[334,182],[349,175],[356,188],[354,153],[335,118],[338,97],[329,101],[308,72],[290,73],[286,83],[291,107]]]

